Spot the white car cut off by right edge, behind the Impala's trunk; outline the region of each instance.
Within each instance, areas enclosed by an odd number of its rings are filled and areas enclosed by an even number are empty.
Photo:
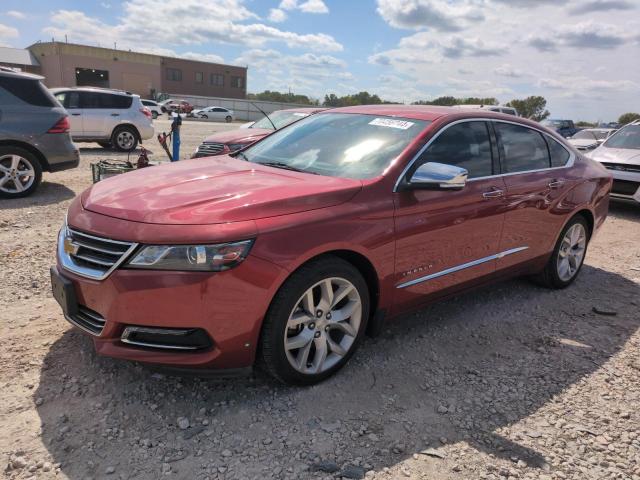
[[[586,156],[613,175],[612,197],[640,204],[640,120],[625,125]]]

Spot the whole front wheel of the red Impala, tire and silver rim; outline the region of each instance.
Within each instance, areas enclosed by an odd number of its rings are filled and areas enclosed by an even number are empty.
[[[368,318],[369,290],[358,269],[333,256],[313,261],[276,294],[262,330],[261,361],[284,383],[321,382],[353,355]]]

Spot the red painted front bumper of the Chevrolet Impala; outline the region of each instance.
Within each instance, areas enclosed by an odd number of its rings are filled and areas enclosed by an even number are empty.
[[[219,273],[116,269],[105,280],[58,273],[73,283],[83,311],[104,319],[102,329],[83,328],[100,355],[188,369],[243,369],[254,363],[262,320],[283,274],[280,267],[249,256]],[[123,341],[128,326],[199,329],[212,346],[167,350]]]

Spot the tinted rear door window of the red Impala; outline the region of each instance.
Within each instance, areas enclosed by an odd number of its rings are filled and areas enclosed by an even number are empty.
[[[510,123],[495,122],[494,125],[502,144],[503,173],[549,168],[549,151],[541,133]]]

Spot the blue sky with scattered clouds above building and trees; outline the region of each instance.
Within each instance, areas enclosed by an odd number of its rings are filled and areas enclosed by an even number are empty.
[[[640,0],[2,0],[0,45],[56,40],[249,67],[249,92],[399,102],[542,95],[640,111]]]

